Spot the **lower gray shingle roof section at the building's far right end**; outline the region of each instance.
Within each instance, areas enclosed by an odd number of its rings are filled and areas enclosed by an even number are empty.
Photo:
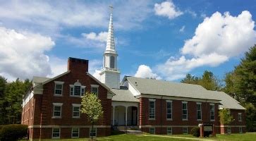
[[[212,93],[212,95],[214,95],[218,99],[221,99],[221,102],[220,102],[221,103],[221,105],[220,105],[221,108],[245,110],[245,108],[243,106],[241,106],[239,104],[239,102],[236,101],[236,99],[233,99],[232,97],[230,97],[225,92],[217,92],[217,91],[209,91],[209,92]]]

